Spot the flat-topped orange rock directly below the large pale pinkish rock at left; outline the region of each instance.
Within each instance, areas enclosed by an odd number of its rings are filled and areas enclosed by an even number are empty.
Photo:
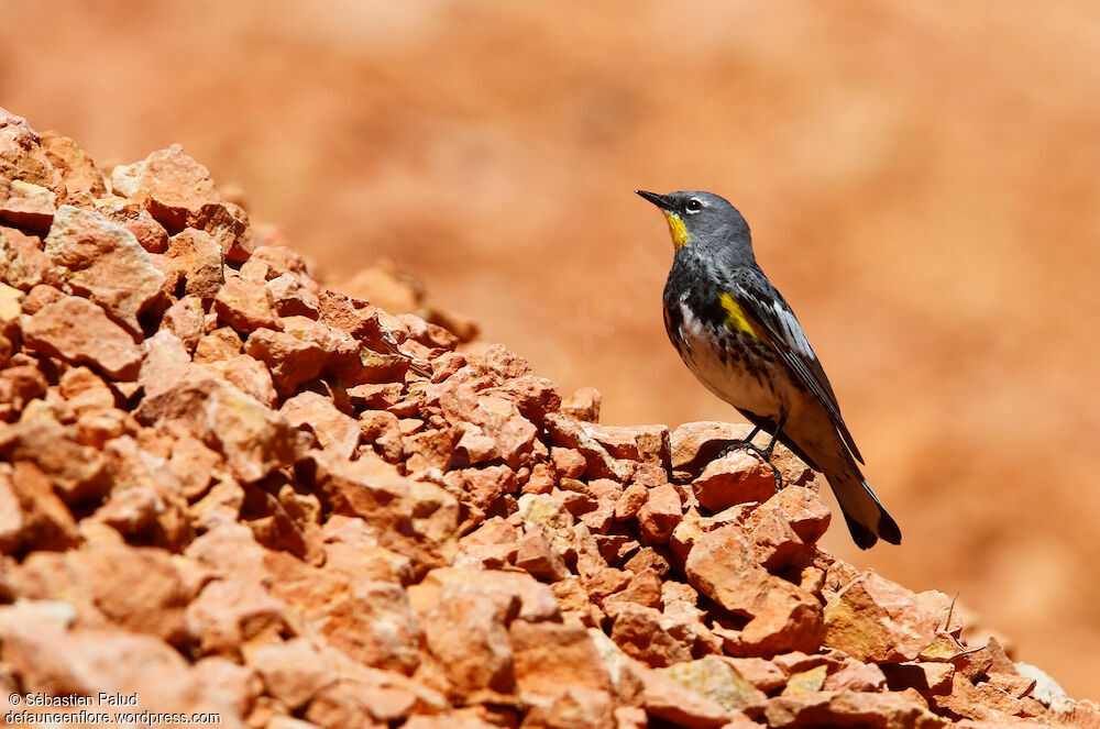
[[[141,350],[88,299],[69,296],[42,307],[23,324],[23,339],[29,350],[91,365],[116,379],[138,377]]]

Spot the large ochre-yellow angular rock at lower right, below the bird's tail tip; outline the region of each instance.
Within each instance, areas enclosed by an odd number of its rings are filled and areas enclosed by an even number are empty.
[[[941,616],[900,585],[868,572],[825,606],[825,644],[860,661],[912,661],[932,642]]]

